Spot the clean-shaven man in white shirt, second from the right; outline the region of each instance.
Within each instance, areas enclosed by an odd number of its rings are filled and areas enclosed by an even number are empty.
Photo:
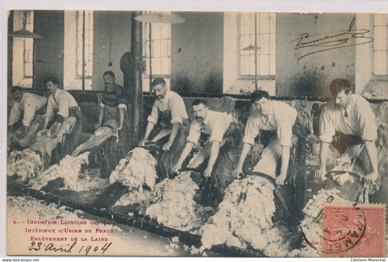
[[[237,163],[237,168],[232,171],[234,177],[239,177],[242,173],[244,160],[249,149],[255,143],[256,136],[260,130],[277,130],[277,138],[281,145],[281,169],[280,175],[276,177],[277,185],[284,185],[287,177],[288,163],[290,158],[290,148],[292,146],[292,128],[298,112],[293,107],[281,101],[271,100],[268,92],[258,90],[251,94],[251,102],[256,109],[251,113],[245,127],[242,141],[241,155]]]

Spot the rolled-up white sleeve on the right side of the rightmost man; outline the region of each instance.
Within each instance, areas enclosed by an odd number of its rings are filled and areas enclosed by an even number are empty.
[[[361,140],[375,141],[377,139],[376,116],[369,102],[364,100],[357,106],[357,117],[360,120]]]

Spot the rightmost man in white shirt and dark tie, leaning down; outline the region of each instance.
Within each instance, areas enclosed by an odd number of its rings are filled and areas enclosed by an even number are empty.
[[[320,161],[315,177],[326,175],[326,159],[329,144],[336,131],[357,136],[364,143],[371,170],[365,175],[366,184],[374,184],[378,178],[378,157],[375,145],[377,124],[371,105],[360,95],[354,94],[348,80],[335,79],[331,82],[332,99],[327,102],[319,119]]]

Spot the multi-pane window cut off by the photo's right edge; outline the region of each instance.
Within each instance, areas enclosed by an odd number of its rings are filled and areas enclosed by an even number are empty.
[[[373,73],[387,75],[387,19],[386,15],[374,15],[373,28]]]

